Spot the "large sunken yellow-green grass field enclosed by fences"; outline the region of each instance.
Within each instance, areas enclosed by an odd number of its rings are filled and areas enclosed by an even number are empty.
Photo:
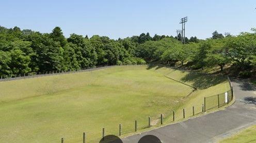
[[[186,86],[167,77],[198,88]],[[91,72],[0,82],[0,142],[97,142],[107,134],[124,134],[201,111],[203,97],[229,90],[226,78],[157,66],[116,66]]]

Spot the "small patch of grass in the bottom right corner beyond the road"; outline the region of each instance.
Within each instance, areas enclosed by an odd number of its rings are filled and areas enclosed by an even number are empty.
[[[219,141],[220,143],[233,143],[233,142],[239,142],[239,143],[245,143],[245,142],[256,142],[256,125],[251,126],[241,132],[238,132],[235,135],[232,135],[229,138],[223,139]]]

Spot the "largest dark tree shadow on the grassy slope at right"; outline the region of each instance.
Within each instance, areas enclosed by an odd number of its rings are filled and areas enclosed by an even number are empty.
[[[181,81],[182,82],[192,82],[194,87],[202,90],[205,88],[209,88],[210,86],[217,85],[226,81],[227,78],[224,76],[217,76],[217,75],[203,75],[199,73],[188,73],[184,76]]]

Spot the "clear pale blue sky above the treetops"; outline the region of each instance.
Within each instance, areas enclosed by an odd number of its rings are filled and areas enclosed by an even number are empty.
[[[61,27],[66,37],[77,33],[118,39],[142,32],[175,35],[188,16],[186,36],[209,38],[214,30],[239,34],[256,27],[255,0],[91,0],[2,1],[0,25],[51,32]]]

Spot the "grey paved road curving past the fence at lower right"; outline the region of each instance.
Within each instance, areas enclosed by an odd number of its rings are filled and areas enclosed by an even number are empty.
[[[256,124],[256,90],[245,80],[232,80],[236,101],[229,108],[171,124],[140,135],[123,138],[135,143],[145,135],[155,135],[162,142],[216,142]]]

